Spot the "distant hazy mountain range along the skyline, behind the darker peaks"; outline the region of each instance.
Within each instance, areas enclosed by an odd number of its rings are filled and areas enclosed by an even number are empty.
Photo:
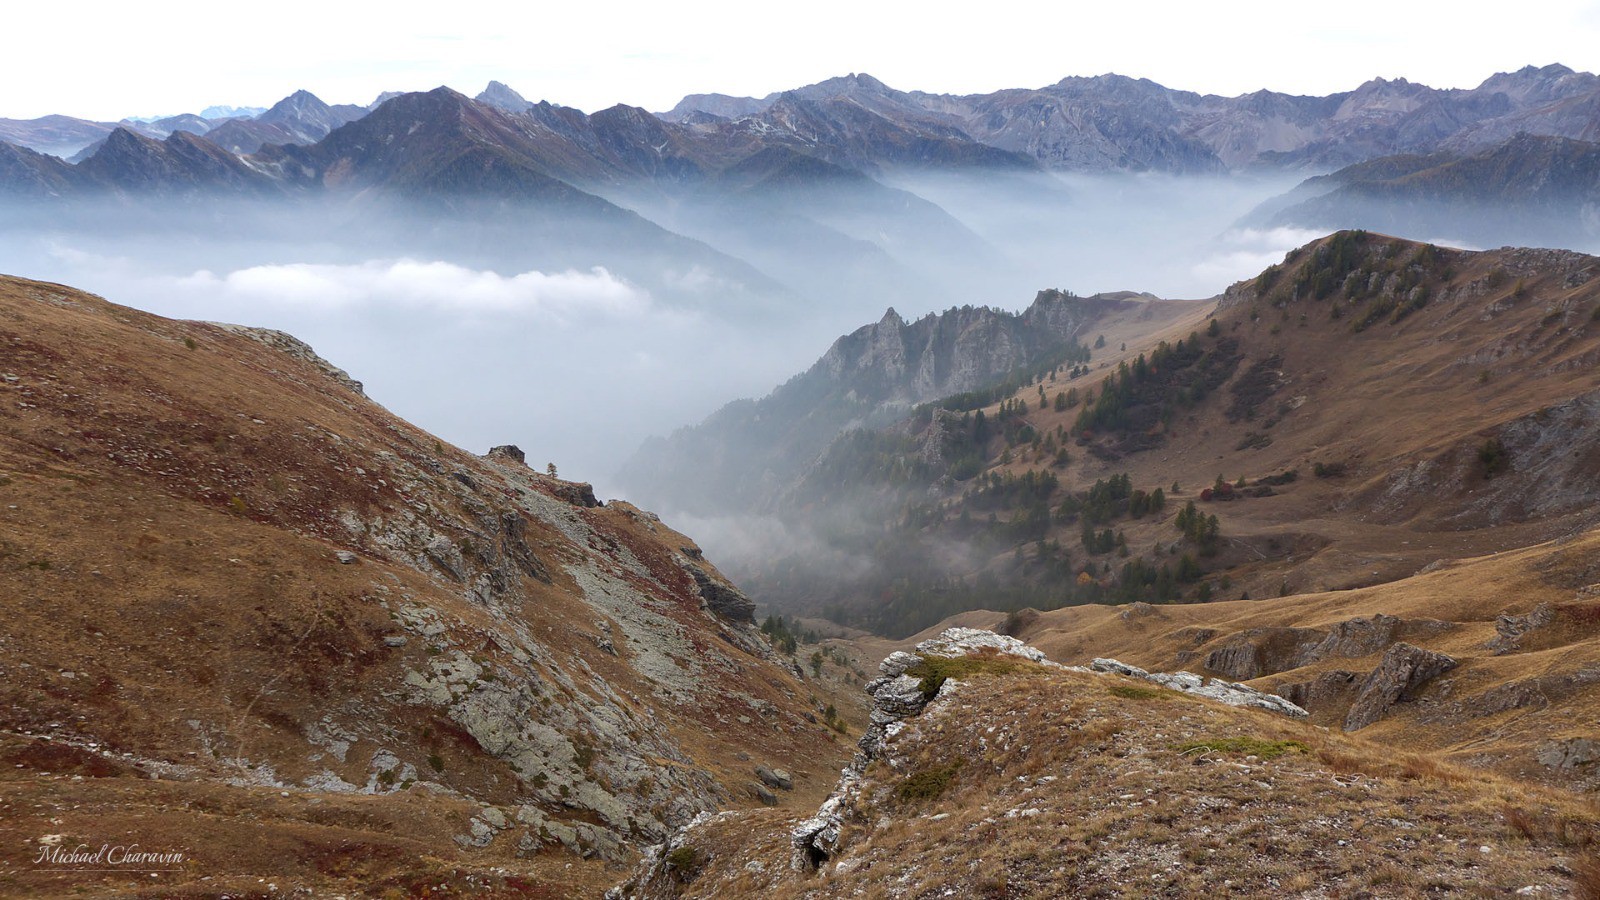
[[[210,135],[234,154],[310,144],[382,106],[328,106],[296,91],[266,112],[120,125],[51,115],[0,120],[0,141],[38,151],[90,146],[117,127],[154,138]],[[682,179],[770,146],[850,168],[1045,167],[1064,171],[1221,173],[1338,168],[1394,154],[1480,151],[1518,133],[1595,138],[1600,78],[1565,66],[1502,72],[1470,90],[1374,78],[1352,91],[1237,98],[1171,90],[1122,75],[1069,77],[1043,88],[990,94],[899,91],[866,74],[766,98],[691,94],[650,115],[530,102],[493,82],[477,102],[538,123],[546,175],[570,179]],[[571,144],[581,147],[570,155]],[[67,154],[70,155],[70,154]],[[626,159],[624,159],[626,157]]]

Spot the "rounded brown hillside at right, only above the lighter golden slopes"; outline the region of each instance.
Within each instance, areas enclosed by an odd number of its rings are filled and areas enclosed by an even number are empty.
[[[1570,251],[1467,253],[1341,232],[1234,285],[1216,336],[1205,315],[1110,335],[1093,376],[1019,391],[1027,423],[1066,432],[1072,460],[1051,466],[1046,448],[1024,445],[995,471],[1053,468],[1074,490],[1126,472],[1138,488],[1166,488],[1163,516],[1117,524],[1152,560],[1179,536],[1182,503],[1243,477],[1269,496],[1200,504],[1224,536],[1206,565],[1229,577],[1211,580],[1219,597],[1373,585],[1565,535],[1600,509],[1597,274],[1600,259]],[[1333,283],[1322,299],[1318,279]],[[1226,341],[1237,362],[1170,423],[1083,432],[1082,407],[1034,404],[1040,388],[1098,396],[1120,364],[1190,333],[1208,351]],[[1291,471],[1293,482],[1262,490]],[[1051,538],[1078,549],[1075,525]]]

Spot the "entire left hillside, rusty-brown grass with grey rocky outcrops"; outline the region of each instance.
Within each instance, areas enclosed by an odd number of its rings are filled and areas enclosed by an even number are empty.
[[[755,765],[814,806],[846,749],[654,516],[445,447],[285,335],[18,279],[0,597],[5,895],[566,897],[757,804]],[[35,862],[107,842],[184,862]]]

